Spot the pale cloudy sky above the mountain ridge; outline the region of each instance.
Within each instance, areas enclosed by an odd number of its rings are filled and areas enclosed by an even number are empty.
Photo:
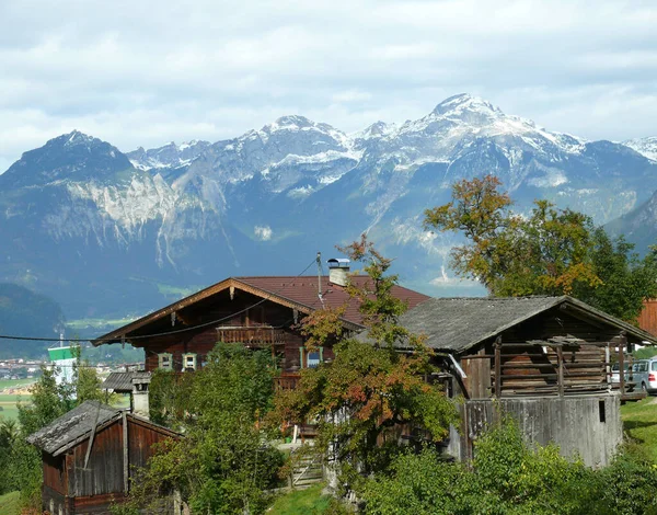
[[[347,131],[469,92],[549,129],[657,135],[657,2],[0,2],[0,170],[73,128],[124,151],[284,114]]]

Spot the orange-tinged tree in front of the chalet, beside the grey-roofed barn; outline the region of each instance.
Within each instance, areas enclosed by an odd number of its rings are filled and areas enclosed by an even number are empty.
[[[343,334],[339,310],[309,316],[303,327],[307,344],[336,341],[335,359],[302,370],[297,389],[278,392],[275,414],[278,421],[316,422],[314,451],[325,457],[331,449],[342,484],[358,490],[365,474],[385,469],[402,449],[402,424],[439,442],[458,414],[442,389],[425,380],[434,369],[430,348],[397,322],[406,305],[392,295],[397,276],[388,274],[391,260],[365,236],[339,250],[360,262],[370,278],[364,287],[347,287],[359,302],[368,341]],[[399,352],[397,343],[406,352]]]

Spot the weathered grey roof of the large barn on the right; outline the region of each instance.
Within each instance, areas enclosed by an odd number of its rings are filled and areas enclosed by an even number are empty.
[[[637,341],[657,344],[652,334],[568,296],[434,298],[406,311],[400,323],[412,333],[425,334],[431,348],[458,354],[557,306],[625,331]]]

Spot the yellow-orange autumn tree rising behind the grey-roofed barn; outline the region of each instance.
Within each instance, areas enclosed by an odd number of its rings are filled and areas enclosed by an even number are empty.
[[[597,287],[590,217],[534,201],[523,217],[493,175],[452,186],[452,201],[425,211],[425,227],[460,232],[451,265],[464,278],[481,282],[496,296],[572,295]]]

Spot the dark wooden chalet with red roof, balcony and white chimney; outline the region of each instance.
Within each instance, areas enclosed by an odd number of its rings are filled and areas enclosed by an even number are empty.
[[[346,260],[339,260],[331,275],[322,277],[230,277],[116,329],[93,344],[130,343],[145,350],[147,371],[161,368],[177,373],[201,367],[218,342],[270,346],[280,368],[277,386],[293,388],[301,368],[333,359],[332,348],[306,351],[298,329],[304,316],[322,307],[346,306],[345,329],[365,329],[359,306],[345,289],[347,272]],[[369,277],[350,275],[349,281],[364,286]],[[401,286],[395,286],[393,294],[410,308],[429,298]]]

